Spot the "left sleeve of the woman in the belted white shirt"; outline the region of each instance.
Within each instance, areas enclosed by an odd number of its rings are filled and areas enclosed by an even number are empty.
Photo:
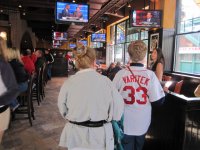
[[[60,89],[60,93],[58,95],[58,109],[60,111],[60,114],[63,118],[65,118],[65,116],[68,113],[67,110],[67,87],[68,87],[68,82],[65,81],[64,84],[62,85],[61,89]]]

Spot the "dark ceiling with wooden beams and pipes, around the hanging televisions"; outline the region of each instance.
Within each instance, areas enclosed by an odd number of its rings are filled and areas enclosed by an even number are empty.
[[[72,2],[72,0],[59,1]],[[132,0],[76,0],[76,3],[90,5],[90,19],[85,25],[55,24],[56,0],[0,0],[0,9],[20,11],[21,19],[27,21],[28,26],[39,39],[52,41],[53,31],[68,32],[69,37],[80,37],[101,28],[111,17],[118,19],[124,17],[124,10],[121,15],[119,10],[130,1]]]

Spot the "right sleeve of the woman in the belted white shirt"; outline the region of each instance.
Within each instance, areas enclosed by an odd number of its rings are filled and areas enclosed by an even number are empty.
[[[120,120],[124,113],[124,100],[121,94],[114,87],[113,83],[111,85],[112,96],[113,96],[113,118],[112,120]]]

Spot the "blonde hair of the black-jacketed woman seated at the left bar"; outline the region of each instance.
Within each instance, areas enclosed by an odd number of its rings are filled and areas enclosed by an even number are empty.
[[[19,49],[9,48],[7,59],[8,59],[8,61],[11,61],[13,59],[17,59],[19,62],[22,63]]]

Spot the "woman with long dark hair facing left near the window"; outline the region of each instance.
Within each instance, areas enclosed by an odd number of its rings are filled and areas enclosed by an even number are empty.
[[[151,55],[153,60],[151,70],[155,72],[159,81],[162,81],[163,71],[165,67],[165,59],[161,48],[154,49]]]

